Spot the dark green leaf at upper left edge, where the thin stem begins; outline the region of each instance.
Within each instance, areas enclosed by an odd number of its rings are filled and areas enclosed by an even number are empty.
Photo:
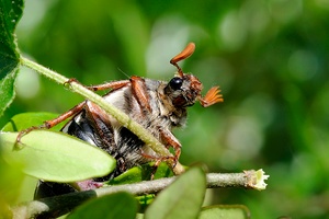
[[[0,0],[0,116],[14,99],[20,54],[14,30],[23,12],[23,0]]]

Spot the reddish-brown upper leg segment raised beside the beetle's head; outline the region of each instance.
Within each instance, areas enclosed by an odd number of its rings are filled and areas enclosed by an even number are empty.
[[[133,76],[131,78],[132,82],[132,91],[134,96],[136,97],[141,110],[148,110],[151,112],[151,107],[149,105],[149,96],[145,85],[145,80],[140,77]]]

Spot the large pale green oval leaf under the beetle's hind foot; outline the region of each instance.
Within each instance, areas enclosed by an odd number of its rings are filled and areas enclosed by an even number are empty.
[[[63,132],[33,130],[21,139],[21,149],[14,147],[16,137],[16,132],[0,132],[1,154],[37,178],[76,182],[104,176],[115,166],[101,149]]]

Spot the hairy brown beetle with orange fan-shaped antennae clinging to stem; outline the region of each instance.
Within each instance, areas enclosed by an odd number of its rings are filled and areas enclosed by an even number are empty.
[[[93,91],[110,89],[103,99],[139,123],[161,143],[168,148],[172,147],[175,161],[181,154],[182,146],[171,131],[175,127],[185,125],[186,108],[197,101],[204,107],[223,102],[219,87],[209,89],[205,96],[202,96],[201,81],[193,74],[184,73],[179,67],[178,62],[190,57],[194,49],[194,43],[190,43],[170,60],[178,71],[169,82],[133,76],[129,80],[88,87]],[[36,198],[100,187],[103,182],[133,166],[149,161],[159,163],[158,161],[168,159],[158,158],[155,151],[135,134],[89,100],[59,117],[45,122],[42,127],[52,128],[67,118],[71,119],[61,128],[61,131],[106,151],[116,159],[116,168],[104,177],[78,182],[75,186],[39,181],[35,193]]]

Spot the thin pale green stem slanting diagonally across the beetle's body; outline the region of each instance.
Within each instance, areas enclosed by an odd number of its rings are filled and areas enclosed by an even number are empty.
[[[112,115],[118,123],[121,123],[124,127],[128,128],[131,131],[133,131],[140,140],[143,140],[146,145],[148,145],[159,157],[172,157],[172,154],[169,152],[169,150],[158,141],[157,138],[155,138],[147,129],[145,129],[141,125],[134,122],[128,115],[120,111],[118,108],[111,105],[109,102],[106,102],[102,96],[95,94],[94,92],[88,90],[80,83],[76,81],[70,81],[68,78],[48,69],[45,68],[42,65],[38,65],[25,57],[21,57],[21,65],[26,66],[38,73],[43,74],[44,77],[59,83],[59,84],[66,84],[69,83],[68,89],[72,92],[76,92],[87,100],[90,100],[93,103],[97,103],[102,110],[104,110],[106,113]],[[173,160],[167,159],[166,162],[168,162],[169,166],[173,165]],[[172,170],[177,175],[184,172],[184,168],[178,162]]]

